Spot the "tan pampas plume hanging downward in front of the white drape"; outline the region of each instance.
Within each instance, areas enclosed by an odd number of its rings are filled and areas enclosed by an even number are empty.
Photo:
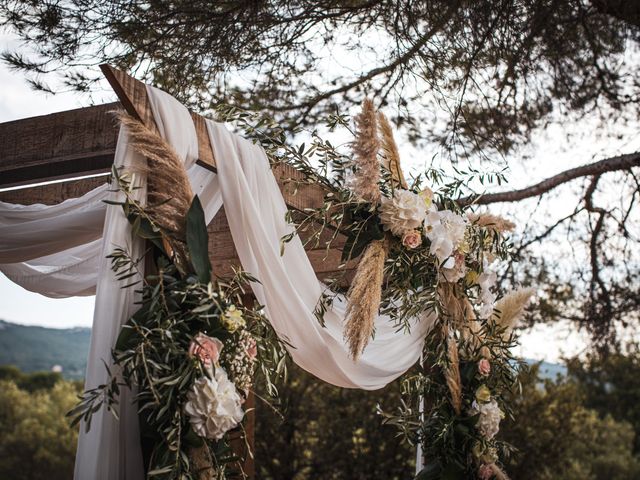
[[[387,239],[375,240],[367,246],[347,293],[344,338],[354,360],[358,359],[373,335],[382,298],[384,262],[388,249]]]

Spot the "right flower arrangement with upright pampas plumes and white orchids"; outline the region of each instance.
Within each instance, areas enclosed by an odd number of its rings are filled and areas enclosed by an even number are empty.
[[[290,220],[314,247],[330,232],[327,248],[343,245],[343,262],[357,261],[344,326],[354,361],[375,333],[379,313],[400,329],[437,316],[425,339],[422,369],[404,381],[405,402],[395,413],[381,411],[408,441],[423,445],[425,467],[418,478],[507,478],[499,465],[510,447],[496,434],[510,415],[506,394],[517,389],[512,328],[533,294],[523,289],[498,300],[495,264],[509,258],[508,234],[515,225],[459,203],[461,179],[447,182],[429,170],[407,181],[391,126],[368,100],[355,119],[350,155],[316,133],[309,147],[291,149],[282,136],[249,126],[233,110],[224,114],[244,122],[246,134],[265,146],[274,163],[303,172],[292,183],[325,188],[322,206]],[[330,127],[337,125],[348,127],[342,117],[330,121]],[[320,321],[344,292],[343,283],[334,279],[319,299]]]

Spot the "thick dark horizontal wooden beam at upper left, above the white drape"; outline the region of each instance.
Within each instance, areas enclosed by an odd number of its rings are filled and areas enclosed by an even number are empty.
[[[111,169],[118,138],[109,112],[118,103],[80,108],[0,125],[0,187]]]

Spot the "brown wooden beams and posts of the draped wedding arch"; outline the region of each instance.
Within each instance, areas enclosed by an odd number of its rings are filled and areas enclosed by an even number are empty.
[[[102,65],[101,69],[119,102],[0,124],[0,201],[50,205],[79,197],[103,184],[113,164],[118,138],[115,110],[125,109],[157,131],[146,85],[109,65]],[[224,159],[214,158],[204,118],[193,112],[191,115],[198,135],[197,163],[215,172],[216,163]],[[322,205],[324,191],[318,185],[298,185],[294,192],[288,179],[301,175],[292,167],[278,166],[274,174],[290,209],[300,211]],[[20,188],[6,190],[9,187]],[[208,232],[213,273],[224,277],[231,273],[233,266],[240,265],[224,208],[211,221]],[[303,240],[310,233],[301,232]],[[307,249],[316,275],[324,279],[344,274],[346,270],[347,275],[343,278],[348,281],[355,262],[341,266],[341,247],[345,239],[339,236],[327,249],[325,242],[328,239],[326,234],[319,245]],[[249,398],[247,407],[251,408],[253,404],[253,398]],[[247,415],[246,432],[247,443],[252,448],[255,410]],[[245,445],[244,441],[236,444],[238,448]],[[249,456],[246,456],[243,469],[249,478],[254,477],[253,459]]]

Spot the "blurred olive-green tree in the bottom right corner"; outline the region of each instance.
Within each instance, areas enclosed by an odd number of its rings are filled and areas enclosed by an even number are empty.
[[[634,429],[585,405],[582,385],[571,378],[541,381],[538,367],[522,376],[517,421],[500,435],[518,448],[507,465],[522,480],[631,480],[640,475]]]

